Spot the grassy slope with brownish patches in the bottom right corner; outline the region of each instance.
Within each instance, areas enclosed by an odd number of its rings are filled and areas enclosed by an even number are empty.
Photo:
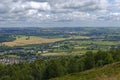
[[[120,80],[120,62],[51,80]]]

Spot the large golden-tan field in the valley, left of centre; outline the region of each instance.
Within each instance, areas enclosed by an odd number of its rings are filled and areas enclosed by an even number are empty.
[[[27,36],[17,36],[15,41],[4,42],[3,44],[13,47],[13,46],[23,46],[23,45],[29,45],[29,44],[56,42],[56,41],[65,39],[65,38],[47,39],[47,38],[41,38],[36,36],[30,36],[29,39],[27,38],[28,38]]]

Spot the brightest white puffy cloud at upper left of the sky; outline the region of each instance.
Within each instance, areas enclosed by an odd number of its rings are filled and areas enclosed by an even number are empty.
[[[37,9],[37,10],[50,10],[50,5],[47,2],[14,2],[11,6],[11,9],[13,11],[21,11],[21,10],[27,10],[27,9]]]

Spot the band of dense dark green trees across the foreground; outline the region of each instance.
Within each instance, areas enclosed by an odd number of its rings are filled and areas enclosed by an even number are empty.
[[[32,63],[0,64],[0,80],[48,80],[118,61],[120,61],[120,49],[87,52],[82,56],[36,60]]]

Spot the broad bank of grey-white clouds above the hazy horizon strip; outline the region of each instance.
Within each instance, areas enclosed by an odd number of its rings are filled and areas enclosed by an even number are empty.
[[[120,0],[2,0],[4,21],[99,21],[120,20]]]

